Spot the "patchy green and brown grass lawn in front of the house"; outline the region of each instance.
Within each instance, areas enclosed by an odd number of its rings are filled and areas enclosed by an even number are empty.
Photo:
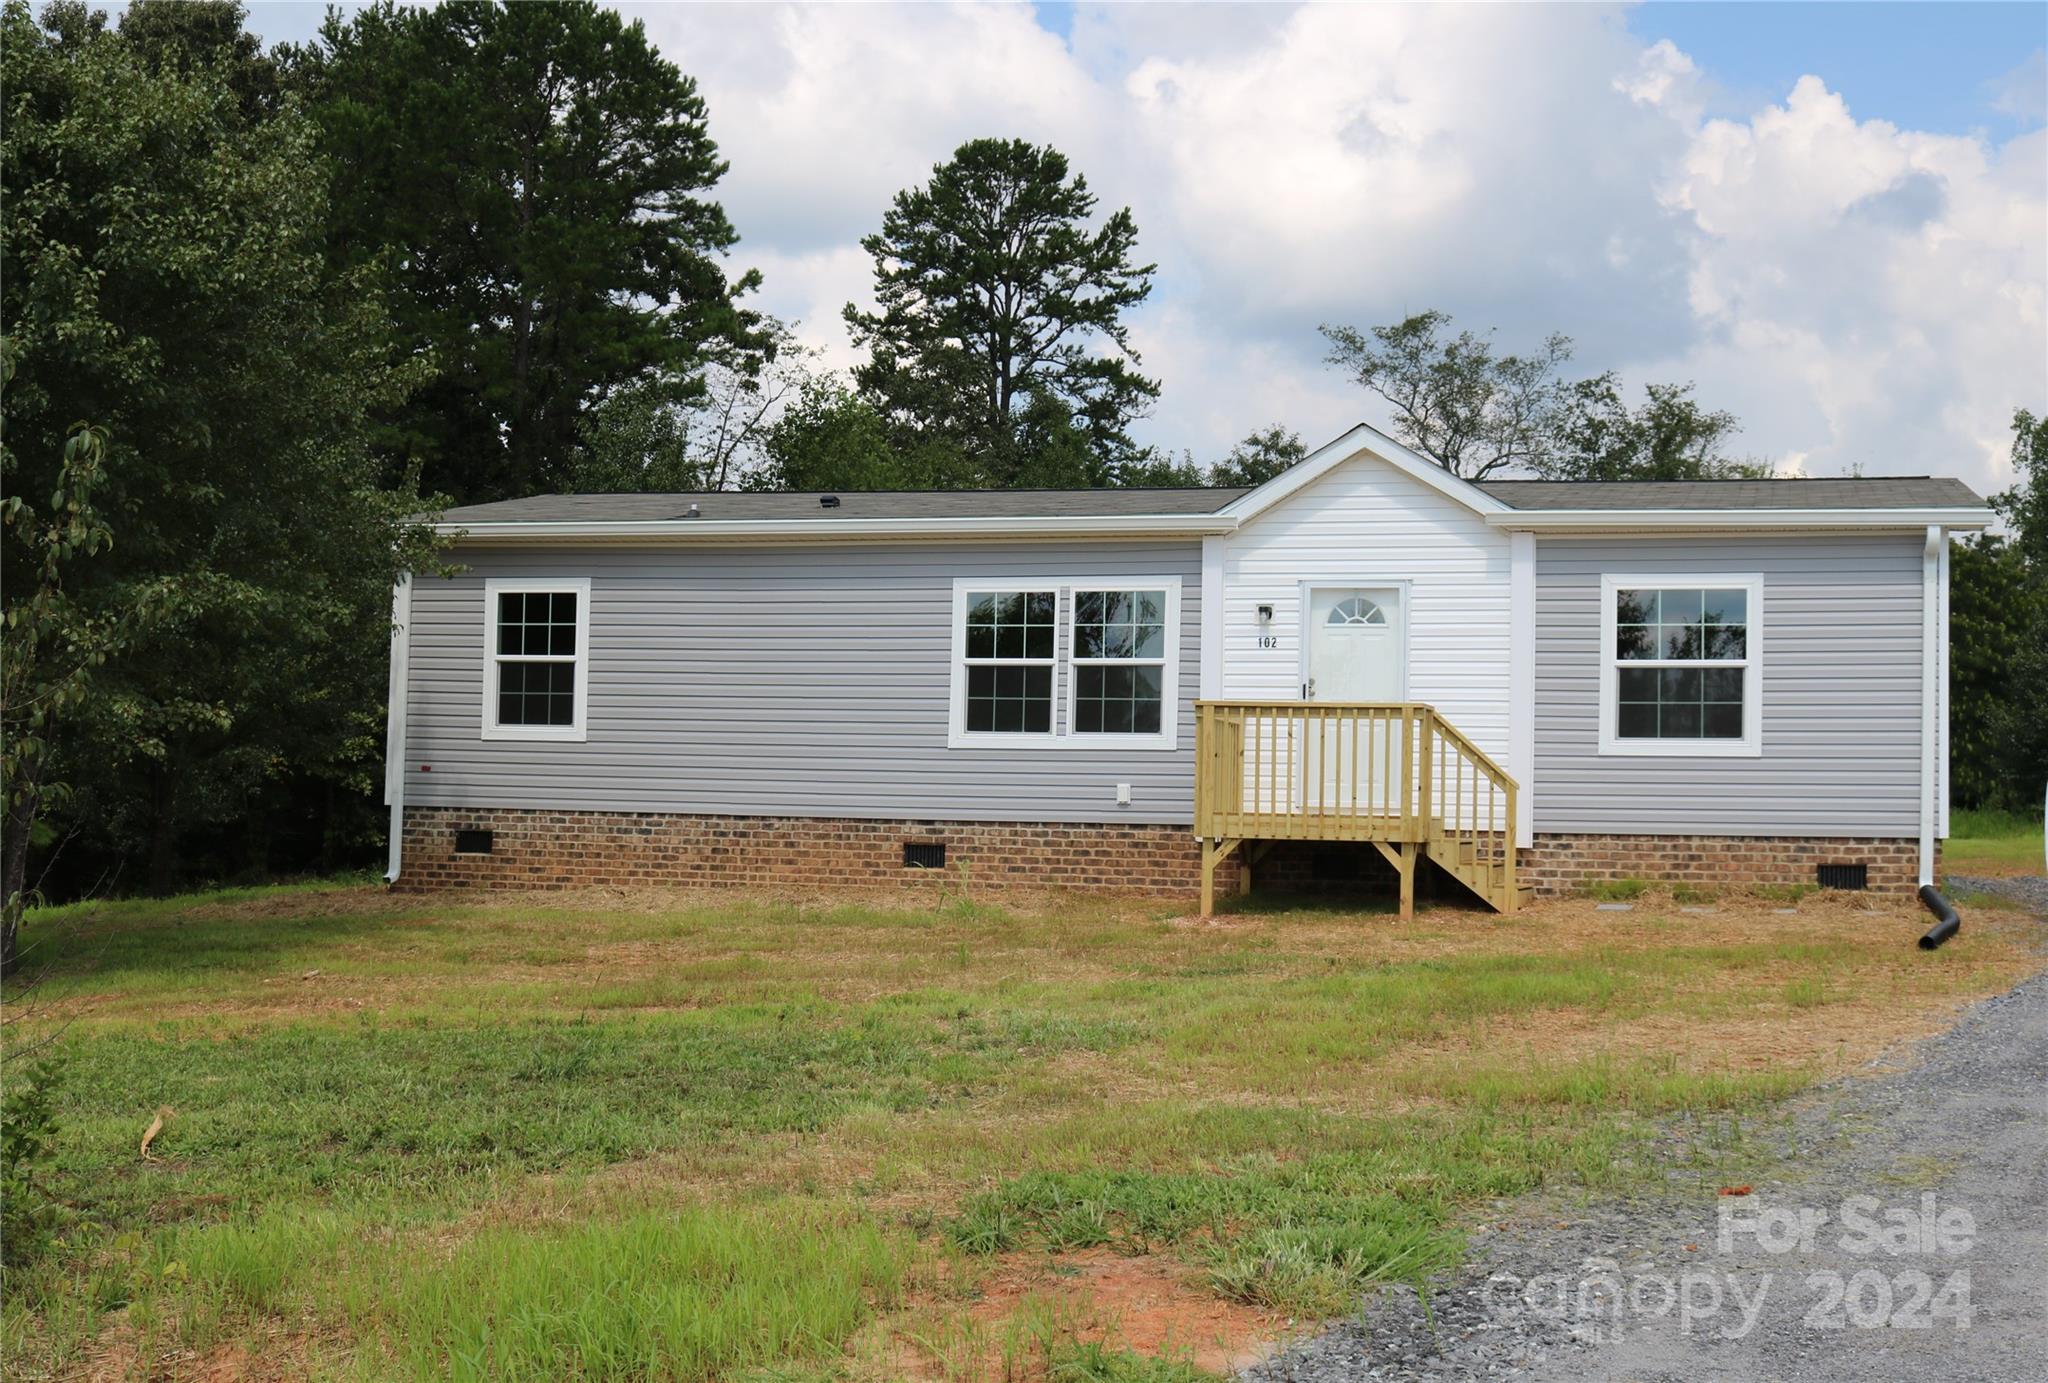
[[[371,885],[33,914],[6,1043],[55,1035],[63,1209],[0,1348],[1190,1379],[1202,1340],[1090,1315],[1073,1264],[1163,1264],[1245,1330],[1337,1313],[1454,1262],[1475,1207],[1642,1176],[1653,1121],[1698,1125],[1677,1184],[1710,1195],[1753,1156],[1731,1115],[2036,965],[1995,916],[1915,951],[1911,899],[1176,914]]]

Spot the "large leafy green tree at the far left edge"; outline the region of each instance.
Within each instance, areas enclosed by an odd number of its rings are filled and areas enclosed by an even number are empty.
[[[381,285],[326,270],[303,117],[244,102],[233,53],[162,61],[84,6],[45,16],[0,18],[6,502],[76,494],[72,424],[104,428],[90,490],[119,541],[66,557],[63,606],[78,627],[158,617],[43,762],[76,789],[70,820],[119,852],[152,838],[170,883],[193,826],[260,832],[264,793],[375,777],[391,580],[426,541],[369,410],[418,371],[389,363]],[[10,600],[43,551],[10,531]]]

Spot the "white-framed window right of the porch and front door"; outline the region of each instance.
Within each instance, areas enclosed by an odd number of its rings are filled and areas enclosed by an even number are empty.
[[[1602,754],[1763,752],[1759,576],[1602,578]]]

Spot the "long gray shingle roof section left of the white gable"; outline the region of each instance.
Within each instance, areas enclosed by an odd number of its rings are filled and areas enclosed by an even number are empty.
[[[465,504],[442,522],[696,522],[721,518],[1040,518],[1069,514],[1214,514],[1245,488],[1204,490],[864,490],[840,494],[838,508],[807,494],[537,494],[530,500]]]

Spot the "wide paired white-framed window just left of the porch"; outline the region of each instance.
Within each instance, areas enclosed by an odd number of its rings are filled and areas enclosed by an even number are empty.
[[[1174,746],[1180,580],[961,580],[954,748]]]

